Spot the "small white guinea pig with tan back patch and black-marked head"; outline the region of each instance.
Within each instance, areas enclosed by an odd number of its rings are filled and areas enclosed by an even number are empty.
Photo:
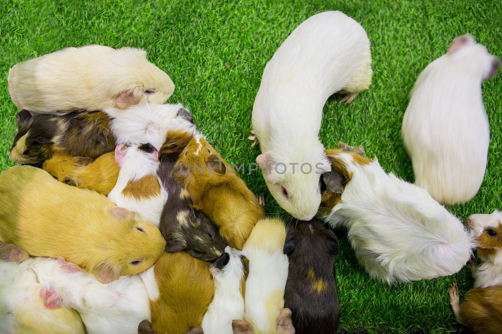
[[[167,198],[157,176],[159,152],[150,143],[130,146],[118,144],[115,148],[115,161],[120,171],[108,199],[136,212],[140,219],[158,227]]]

